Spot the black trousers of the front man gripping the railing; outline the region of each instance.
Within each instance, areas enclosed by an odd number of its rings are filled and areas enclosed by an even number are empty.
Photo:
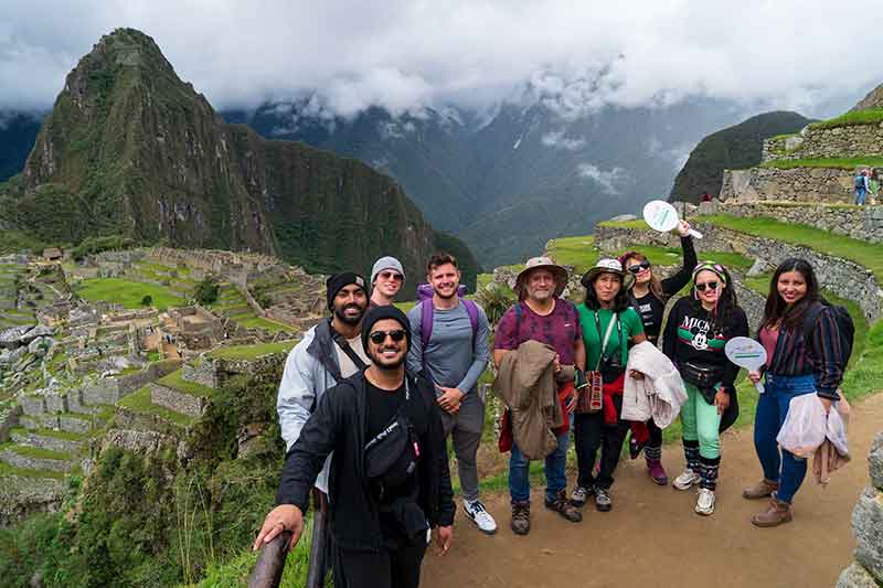
[[[334,588],[418,588],[425,553],[423,538],[379,554],[338,548]]]

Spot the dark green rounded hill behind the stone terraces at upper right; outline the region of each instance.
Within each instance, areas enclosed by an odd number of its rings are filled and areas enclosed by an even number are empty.
[[[797,132],[810,122],[812,120],[797,113],[775,111],[709,135],[691,151],[687,164],[674,179],[670,199],[699,202],[703,192],[716,196],[724,169],[757,165],[764,139]]]

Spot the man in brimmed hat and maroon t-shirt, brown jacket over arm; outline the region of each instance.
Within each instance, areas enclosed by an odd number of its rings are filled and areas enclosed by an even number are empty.
[[[507,353],[518,350],[525,341],[538,341],[552,346],[557,356],[555,371],[563,366],[585,370],[586,350],[579,317],[573,303],[560,298],[567,285],[567,271],[547,257],[534,257],[515,279],[515,293],[519,302],[506,311],[493,342],[493,363],[500,366]],[[572,371],[572,370],[568,370]],[[565,404],[565,414],[576,407],[573,385],[558,388],[560,399]],[[566,398],[565,398],[566,397]],[[568,418],[565,420],[570,420]],[[567,458],[570,427],[567,423],[555,431],[557,448],[545,458],[545,506],[565,520],[577,523],[583,520],[565,495],[567,477],[564,472]],[[509,493],[512,500],[511,527],[517,535],[526,535],[530,522],[530,460],[524,457],[518,443],[512,445],[509,459]]]

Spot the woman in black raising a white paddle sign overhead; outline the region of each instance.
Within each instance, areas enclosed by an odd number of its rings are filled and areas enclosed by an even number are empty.
[[[662,328],[662,317],[666,313],[666,303],[684,286],[690,284],[690,269],[696,265],[696,252],[693,248],[693,237],[690,236],[690,223],[680,221],[678,234],[681,236],[683,249],[683,266],[672,276],[660,279],[647,256],[639,252],[628,252],[619,257],[623,269],[634,276],[634,285],[629,290],[631,306],[638,312],[643,323],[647,339],[656,344],[659,331]],[[632,459],[643,448],[643,458],[647,461],[647,471],[650,478],[659,485],[668,485],[669,478],[662,468],[662,429],[657,427],[652,419],[647,424],[637,424],[631,428],[629,449]]]

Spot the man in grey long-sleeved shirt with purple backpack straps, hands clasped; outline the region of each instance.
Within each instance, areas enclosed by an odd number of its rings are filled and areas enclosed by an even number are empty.
[[[497,523],[479,500],[476,464],[485,426],[485,399],[478,394],[478,378],[490,356],[488,317],[481,307],[458,296],[460,270],[454,256],[434,255],[426,278],[433,287],[433,298],[416,304],[407,314],[412,330],[407,367],[414,373],[423,372],[435,384],[445,432],[454,439],[464,512],[480,531],[492,534]],[[432,304],[433,324],[425,349],[422,304]]]

